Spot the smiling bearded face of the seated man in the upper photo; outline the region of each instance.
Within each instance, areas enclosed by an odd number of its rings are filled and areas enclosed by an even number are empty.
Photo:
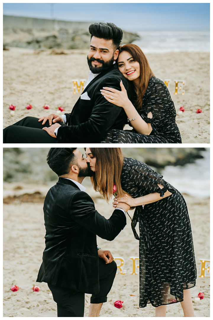
[[[115,50],[112,40],[92,37],[87,62],[93,73],[100,73],[112,66],[118,58],[118,50]]]

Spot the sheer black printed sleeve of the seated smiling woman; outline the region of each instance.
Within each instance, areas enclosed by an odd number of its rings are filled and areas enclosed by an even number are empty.
[[[145,122],[151,123],[153,131],[157,131],[161,120],[164,119],[168,109],[173,105],[170,93],[163,81],[157,80],[156,82],[153,80],[144,94],[140,115]],[[152,119],[147,117],[150,111],[153,116]]]

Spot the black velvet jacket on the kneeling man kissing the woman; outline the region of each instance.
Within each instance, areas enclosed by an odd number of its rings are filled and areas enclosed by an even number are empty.
[[[124,212],[117,209],[105,219],[91,197],[64,178],[48,191],[43,210],[45,249],[36,281],[98,293],[96,235],[113,240],[126,225]]]

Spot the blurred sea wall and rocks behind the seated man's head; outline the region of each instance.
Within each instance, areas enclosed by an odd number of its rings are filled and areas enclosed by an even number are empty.
[[[3,46],[40,50],[88,49],[91,23],[4,16]],[[122,44],[140,38],[136,33],[123,32]]]

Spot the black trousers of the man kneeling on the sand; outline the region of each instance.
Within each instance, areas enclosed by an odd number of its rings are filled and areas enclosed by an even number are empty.
[[[107,294],[112,287],[117,264],[115,261],[105,264],[105,261],[98,258],[99,262],[99,286],[97,294],[92,294],[90,303],[102,303],[107,301]],[[53,300],[57,303],[58,317],[83,317],[84,316],[84,292],[74,291],[48,284],[52,292]]]

